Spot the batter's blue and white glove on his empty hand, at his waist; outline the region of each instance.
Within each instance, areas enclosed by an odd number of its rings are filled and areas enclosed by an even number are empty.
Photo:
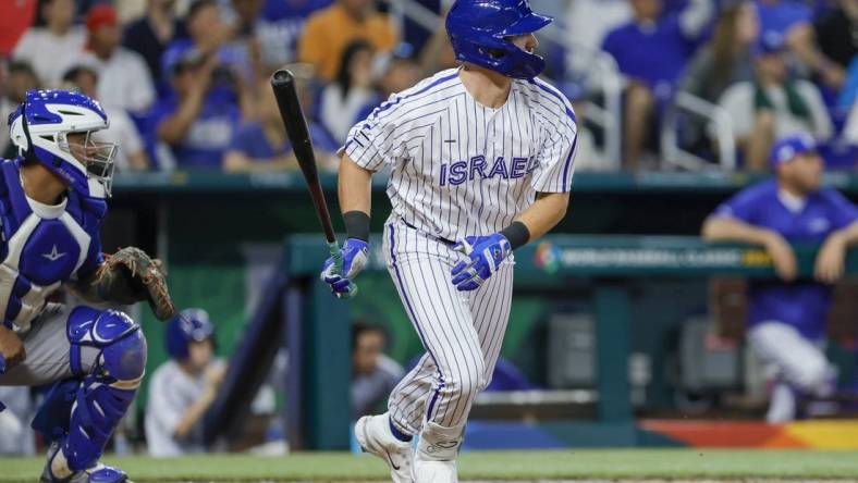
[[[466,236],[453,249],[462,251],[470,259],[467,262],[459,262],[450,272],[453,275],[453,285],[459,292],[479,288],[483,282],[494,275],[494,272],[501,268],[501,262],[513,251],[510,240],[500,233],[489,236]]]

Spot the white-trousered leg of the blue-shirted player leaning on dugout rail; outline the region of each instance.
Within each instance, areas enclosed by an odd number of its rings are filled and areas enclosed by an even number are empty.
[[[760,359],[777,368],[769,406],[769,422],[795,419],[797,394],[821,396],[830,392],[833,371],[820,347],[794,327],[781,322],[761,323],[748,333],[748,342]]]

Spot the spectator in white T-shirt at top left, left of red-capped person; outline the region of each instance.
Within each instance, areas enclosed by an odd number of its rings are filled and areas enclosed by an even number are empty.
[[[57,86],[86,42],[86,33],[74,25],[74,0],[47,0],[41,7],[44,27],[27,30],[13,57],[28,62],[41,84]]]

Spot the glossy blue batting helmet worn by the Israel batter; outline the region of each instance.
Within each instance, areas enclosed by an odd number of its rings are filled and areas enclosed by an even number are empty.
[[[446,16],[446,34],[456,60],[507,77],[534,78],[546,69],[544,59],[507,38],[532,34],[551,22],[534,13],[528,0],[457,0]]]

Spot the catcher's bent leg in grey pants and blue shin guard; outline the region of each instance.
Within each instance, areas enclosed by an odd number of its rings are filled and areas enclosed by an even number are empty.
[[[26,361],[0,384],[57,382],[33,422],[52,442],[42,481],[124,481],[124,473],[98,460],[143,377],[146,339],[139,326],[117,311],[50,306],[24,347]]]

